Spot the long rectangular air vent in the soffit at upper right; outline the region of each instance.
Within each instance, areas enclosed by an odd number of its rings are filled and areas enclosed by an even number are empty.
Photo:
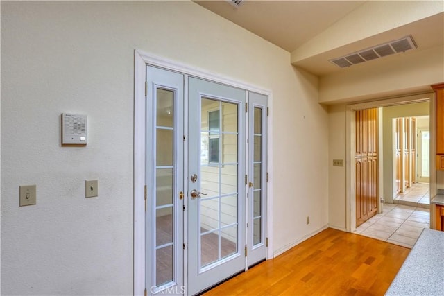
[[[387,55],[393,55],[394,53],[403,53],[404,51],[409,51],[410,49],[416,49],[416,44],[411,35],[400,40],[393,40],[391,42],[370,47],[369,49],[349,53],[343,57],[334,58],[330,60],[330,62],[341,68],[345,68],[350,67],[353,64],[368,62],[369,60],[375,60],[377,58],[384,58]]]

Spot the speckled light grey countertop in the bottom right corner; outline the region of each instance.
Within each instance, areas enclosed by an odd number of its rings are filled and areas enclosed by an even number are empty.
[[[422,231],[386,295],[444,295],[444,232]]]

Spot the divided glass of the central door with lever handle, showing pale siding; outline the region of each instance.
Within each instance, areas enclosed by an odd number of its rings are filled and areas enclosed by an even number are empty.
[[[237,252],[238,107],[201,99],[200,268]]]

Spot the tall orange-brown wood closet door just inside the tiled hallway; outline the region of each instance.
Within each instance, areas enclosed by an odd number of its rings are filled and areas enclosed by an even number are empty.
[[[357,110],[356,127],[356,226],[377,213],[377,109]]]

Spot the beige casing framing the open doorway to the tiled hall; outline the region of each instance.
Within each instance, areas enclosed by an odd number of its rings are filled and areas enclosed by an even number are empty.
[[[350,103],[345,106],[345,230],[347,232],[356,231],[356,199],[355,199],[355,110],[387,107],[393,105],[403,105],[409,103],[420,103],[429,101],[429,121],[430,121],[430,155],[435,155],[435,95],[433,92],[424,92],[421,94],[412,94],[405,96],[396,96],[391,98],[379,98],[375,101],[368,101],[365,103]],[[382,120],[382,116],[380,118]],[[382,124],[379,124],[382,126]],[[379,135],[381,137],[381,135]],[[383,145],[382,141],[379,141],[380,146]],[[390,143],[391,145],[391,143]],[[379,157],[379,197],[384,193],[383,180],[384,175],[382,173],[382,161],[383,157]],[[436,192],[436,174],[432,173],[435,168],[435,158],[430,157],[430,192]],[[378,198],[380,206],[381,198]],[[381,208],[381,207],[379,207]],[[431,225],[432,225],[432,212],[430,213]]]

